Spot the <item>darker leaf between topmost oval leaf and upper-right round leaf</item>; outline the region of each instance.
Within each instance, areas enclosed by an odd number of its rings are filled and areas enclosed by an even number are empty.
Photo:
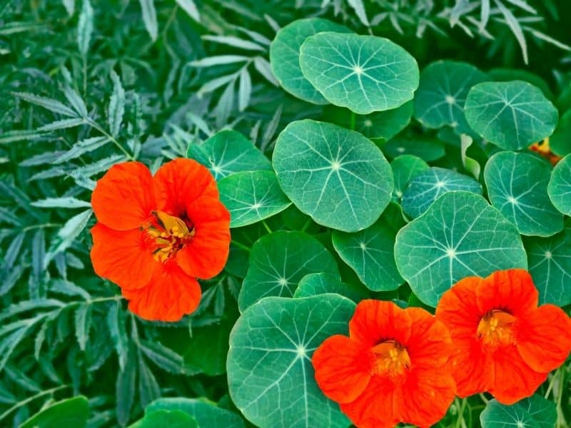
[[[468,91],[485,81],[482,71],[469,63],[435,61],[420,73],[415,93],[415,118],[428,128],[452,126],[459,133],[470,132],[464,117]]]

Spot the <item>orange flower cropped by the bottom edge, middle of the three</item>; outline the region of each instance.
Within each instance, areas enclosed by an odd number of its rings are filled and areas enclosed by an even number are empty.
[[[425,310],[363,300],[349,322],[349,337],[325,340],[313,367],[320,389],[358,427],[429,427],[455,396],[451,351],[448,330]]]

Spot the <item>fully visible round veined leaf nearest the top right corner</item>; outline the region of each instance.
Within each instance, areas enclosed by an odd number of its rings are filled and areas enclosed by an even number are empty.
[[[523,81],[473,86],[464,106],[470,127],[505,150],[519,150],[552,134],[557,108],[540,88]]]

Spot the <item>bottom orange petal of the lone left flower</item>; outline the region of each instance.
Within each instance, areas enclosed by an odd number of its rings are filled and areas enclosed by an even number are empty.
[[[176,263],[159,264],[151,281],[138,290],[123,289],[129,310],[150,321],[178,321],[191,314],[201,301],[198,281]]]

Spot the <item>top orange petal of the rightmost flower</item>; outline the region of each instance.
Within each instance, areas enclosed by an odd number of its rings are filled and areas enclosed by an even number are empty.
[[[477,305],[482,314],[501,309],[515,317],[537,307],[537,288],[529,272],[523,269],[498,270],[476,288]]]

